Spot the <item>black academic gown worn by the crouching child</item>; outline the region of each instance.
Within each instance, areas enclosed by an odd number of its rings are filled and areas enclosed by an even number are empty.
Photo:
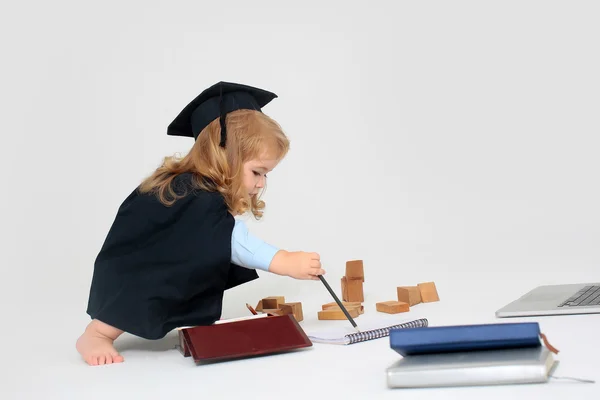
[[[97,256],[87,313],[146,339],[221,317],[224,291],[258,278],[231,263],[234,218],[223,197],[191,188],[167,207],[134,190],[119,207]]]

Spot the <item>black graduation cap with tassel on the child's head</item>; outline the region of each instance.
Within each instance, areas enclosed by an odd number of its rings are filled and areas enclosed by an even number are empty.
[[[193,137],[196,140],[202,129],[216,118],[220,118],[220,145],[225,147],[227,113],[240,109],[262,112],[262,107],[275,98],[275,93],[252,86],[230,82],[216,83],[185,106],[167,128],[167,135]]]

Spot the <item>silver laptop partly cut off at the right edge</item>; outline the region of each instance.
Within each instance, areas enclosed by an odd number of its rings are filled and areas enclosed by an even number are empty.
[[[600,283],[538,286],[496,311],[496,317],[593,313],[600,313]]]

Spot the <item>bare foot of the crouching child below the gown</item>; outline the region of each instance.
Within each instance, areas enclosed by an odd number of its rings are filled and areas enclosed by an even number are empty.
[[[89,365],[121,363],[123,356],[115,349],[113,342],[122,333],[123,331],[94,319],[77,339],[75,347]]]

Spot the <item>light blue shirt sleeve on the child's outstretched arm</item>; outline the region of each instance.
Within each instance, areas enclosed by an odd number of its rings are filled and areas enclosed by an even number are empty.
[[[231,262],[251,269],[269,270],[278,248],[265,243],[248,231],[244,221],[235,219],[231,234]]]

